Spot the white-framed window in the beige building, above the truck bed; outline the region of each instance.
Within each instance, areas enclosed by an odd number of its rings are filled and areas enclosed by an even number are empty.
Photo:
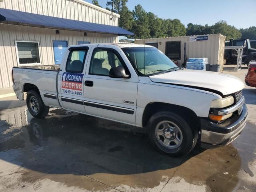
[[[18,65],[40,65],[39,42],[16,41]]]

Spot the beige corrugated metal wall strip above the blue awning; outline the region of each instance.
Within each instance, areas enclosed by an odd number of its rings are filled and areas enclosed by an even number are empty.
[[[113,26],[120,17],[110,20],[110,11],[83,0],[4,0],[0,8]]]

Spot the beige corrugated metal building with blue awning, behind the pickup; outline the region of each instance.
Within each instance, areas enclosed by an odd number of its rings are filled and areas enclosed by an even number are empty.
[[[0,88],[12,86],[13,66],[60,64],[69,45],[132,35],[119,17],[83,0],[0,1]]]

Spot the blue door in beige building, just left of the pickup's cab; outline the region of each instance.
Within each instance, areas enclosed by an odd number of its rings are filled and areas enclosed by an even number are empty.
[[[62,58],[68,47],[67,41],[53,41],[54,63],[61,64]]]

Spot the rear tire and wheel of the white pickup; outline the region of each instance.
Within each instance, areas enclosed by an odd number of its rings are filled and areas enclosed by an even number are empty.
[[[34,90],[27,94],[26,103],[30,114],[36,118],[44,118],[49,112],[49,106],[45,106],[42,98]]]

